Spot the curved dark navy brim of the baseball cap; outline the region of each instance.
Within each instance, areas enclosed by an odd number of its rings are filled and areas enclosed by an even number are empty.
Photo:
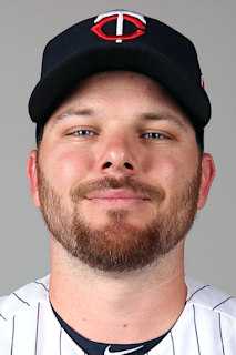
[[[34,88],[29,112],[32,120],[43,124],[71,88],[82,78],[101,71],[129,70],[145,74],[165,88],[179,100],[189,112],[191,120],[205,126],[211,118],[207,94],[186,75],[176,63],[144,45],[134,44],[112,47],[96,45],[90,50],[78,51],[61,62]]]

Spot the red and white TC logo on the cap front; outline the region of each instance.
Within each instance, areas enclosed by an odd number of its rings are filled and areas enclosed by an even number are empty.
[[[114,36],[106,34],[103,32],[103,26],[116,20],[116,33]],[[136,31],[130,34],[123,34],[124,20],[132,22],[136,27]],[[95,26],[91,28],[96,36],[106,41],[115,41],[122,43],[122,41],[133,40],[137,37],[145,34],[146,20],[142,14],[131,11],[110,11],[106,13],[99,14],[94,20]]]

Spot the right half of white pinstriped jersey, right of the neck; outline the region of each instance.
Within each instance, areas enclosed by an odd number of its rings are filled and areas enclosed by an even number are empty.
[[[170,346],[175,354],[235,354],[235,297],[191,277],[185,283],[185,307],[170,336],[160,344],[164,349],[161,354]]]

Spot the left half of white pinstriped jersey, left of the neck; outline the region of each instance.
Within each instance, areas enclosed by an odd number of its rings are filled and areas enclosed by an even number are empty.
[[[61,327],[50,305],[49,281],[31,282],[0,298],[0,354],[34,354],[39,342],[43,354],[58,354]]]

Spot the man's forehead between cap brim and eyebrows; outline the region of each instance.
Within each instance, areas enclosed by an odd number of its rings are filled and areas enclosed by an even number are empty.
[[[181,104],[163,85],[146,75],[129,71],[101,72],[81,80],[49,121],[76,110],[95,110],[98,115],[111,111],[116,114],[171,113],[189,124]]]

